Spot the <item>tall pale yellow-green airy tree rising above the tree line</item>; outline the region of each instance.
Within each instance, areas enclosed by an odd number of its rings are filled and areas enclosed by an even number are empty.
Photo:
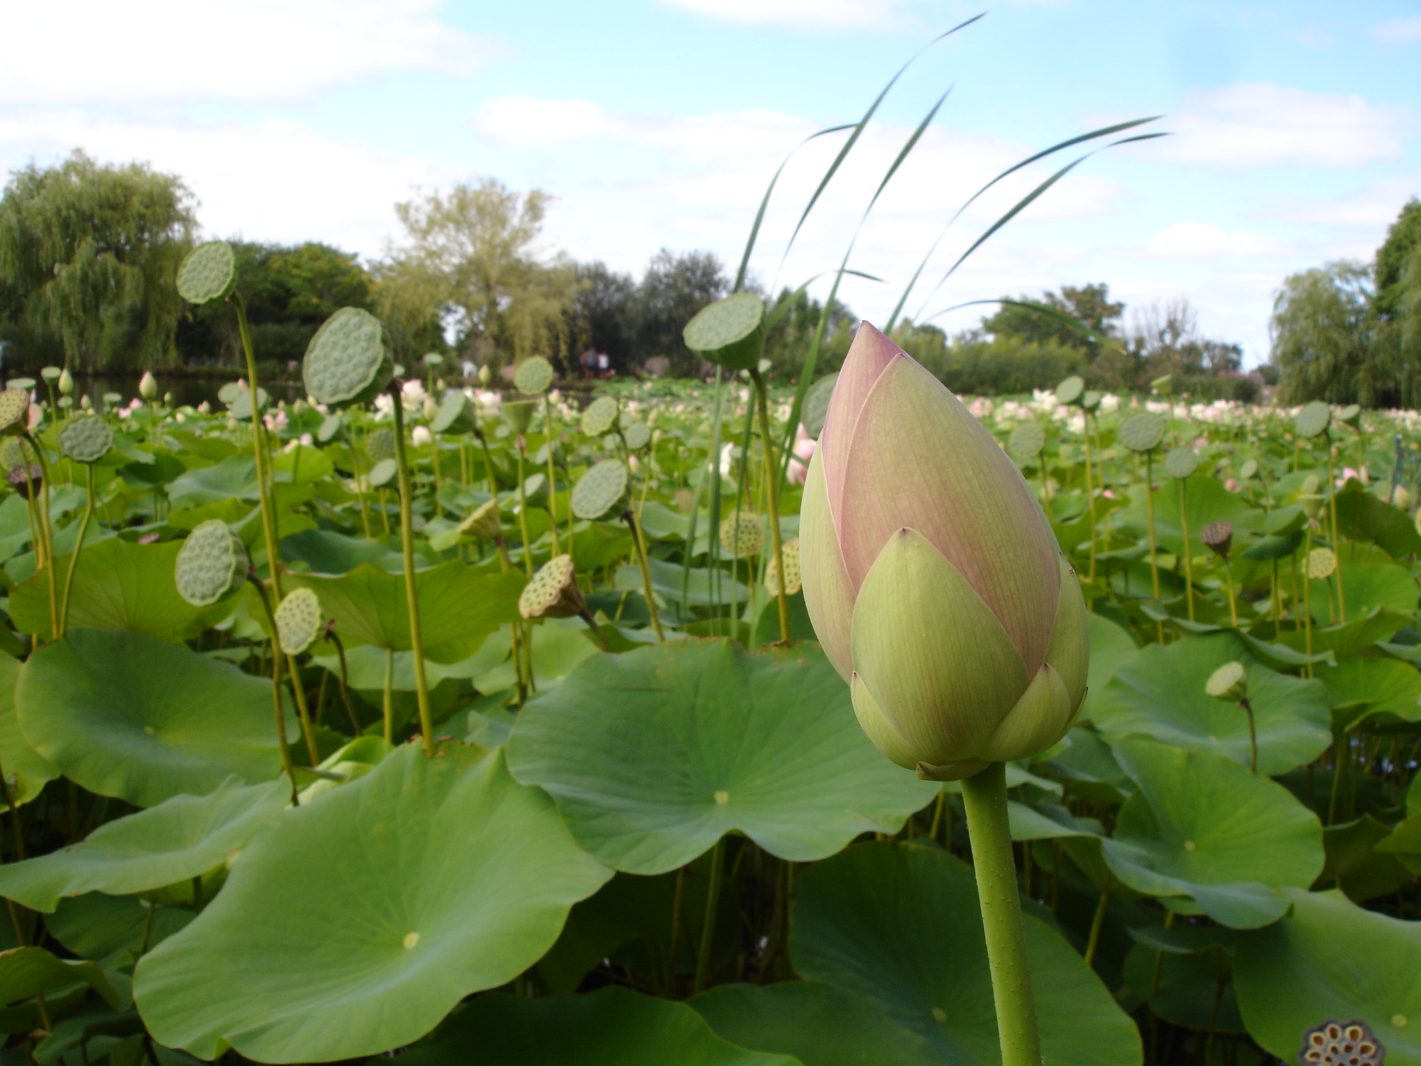
[[[460,350],[480,362],[557,355],[567,345],[576,271],[533,252],[550,199],[485,178],[395,205],[408,243],[394,263],[408,284],[439,293],[455,313]]]

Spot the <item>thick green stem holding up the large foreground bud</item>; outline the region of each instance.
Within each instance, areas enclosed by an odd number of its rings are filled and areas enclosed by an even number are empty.
[[[968,814],[986,958],[992,969],[1002,1066],[1042,1066],[1026,931],[1012,861],[1012,833],[1006,822],[1006,763],[990,763],[980,773],[963,779],[962,803]]]

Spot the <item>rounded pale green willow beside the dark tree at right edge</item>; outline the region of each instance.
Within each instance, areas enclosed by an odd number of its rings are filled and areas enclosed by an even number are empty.
[[[1394,391],[1371,357],[1373,273],[1337,260],[1289,274],[1273,301],[1273,362],[1279,399],[1374,407]]]

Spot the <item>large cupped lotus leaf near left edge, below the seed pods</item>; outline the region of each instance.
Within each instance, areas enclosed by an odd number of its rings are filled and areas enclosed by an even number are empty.
[[[14,699],[61,773],[139,807],[281,772],[270,681],[141,632],[70,630],[24,664]]]

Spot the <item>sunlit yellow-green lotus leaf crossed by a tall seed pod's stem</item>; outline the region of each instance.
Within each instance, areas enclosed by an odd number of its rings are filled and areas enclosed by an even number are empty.
[[[524,583],[516,570],[487,574],[458,559],[416,571],[425,658],[435,662],[469,658],[490,632],[519,618]],[[320,597],[321,608],[335,620],[335,631],[347,642],[395,651],[414,648],[404,574],[362,563],[340,577],[291,574],[290,584],[311,588]]]

